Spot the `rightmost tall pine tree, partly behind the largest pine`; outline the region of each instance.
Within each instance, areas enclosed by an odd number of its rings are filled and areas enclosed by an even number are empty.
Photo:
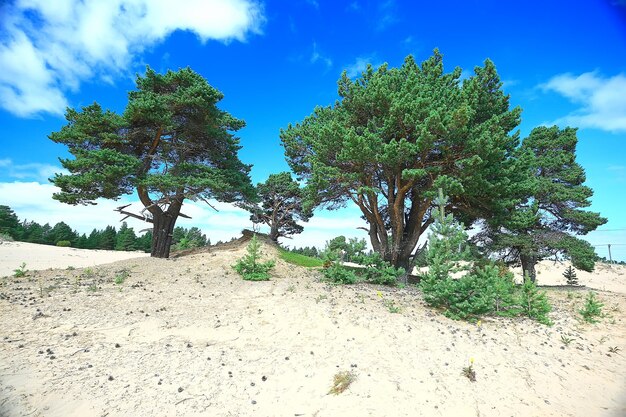
[[[585,235],[607,219],[585,210],[593,191],[583,185],[577,142],[576,129],[533,129],[519,150],[520,163],[530,174],[517,182],[519,202],[508,216],[490,219],[475,238],[488,250],[507,254],[509,262],[521,260],[532,280],[537,262],[559,254],[571,259],[574,268],[594,268],[593,246],[574,235]]]

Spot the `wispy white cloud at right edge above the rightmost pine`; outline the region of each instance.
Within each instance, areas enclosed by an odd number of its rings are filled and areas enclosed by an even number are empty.
[[[561,74],[540,85],[580,107],[554,121],[582,128],[626,132],[626,75],[603,77],[596,72]]]

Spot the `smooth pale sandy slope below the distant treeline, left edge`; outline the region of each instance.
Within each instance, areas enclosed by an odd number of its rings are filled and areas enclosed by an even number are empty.
[[[64,269],[68,266],[82,268],[145,256],[148,254],[143,252],[87,250],[26,242],[0,242],[0,277],[13,275],[13,271],[23,262],[26,263],[26,269],[35,271],[48,268]]]

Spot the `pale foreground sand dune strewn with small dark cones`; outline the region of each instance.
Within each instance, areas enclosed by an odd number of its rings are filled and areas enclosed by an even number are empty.
[[[413,287],[330,286],[280,260],[246,282],[230,267],[244,252],[3,279],[0,415],[626,415],[623,267],[583,281],[607,317],[582,323],[586,289],[549,289],[546,327],[453,321]],[[354,382],[329,394],[342,371]]]

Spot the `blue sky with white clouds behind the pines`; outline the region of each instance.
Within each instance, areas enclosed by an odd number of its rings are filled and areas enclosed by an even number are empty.
[[[462,77],[490,58],[523,109],[522,137],[540,125],[578,127],[591,210],[609,222],[585,238],[626,260],[626,2],[624,0],[19,0],[0,1],[0,204],[20,219],[65,221],[79,232],[119,225],[134,196],[68,206],[48,181],[69,154],[48,139],[66,107],[94,101],[122,112],[136,74],[191,67],[247,126],[240,158],[254,183],[288,170],[279,132],[332,104],[342,71],[444,55]],[[136,207],[139,207],[137,203]],[[229,204],[185,204],[212,242],[251,227]],[[135,230],[147,227],[129,220]],[[284,243],[366,238],[359,211],[318,210]],[[602,246],[600,246],[602,245]]]

